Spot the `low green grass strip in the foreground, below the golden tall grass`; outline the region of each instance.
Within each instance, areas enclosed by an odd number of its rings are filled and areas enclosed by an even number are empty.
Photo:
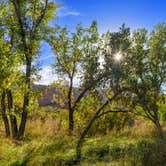
[[[0,166],[72,165],[76,139],[41,138],[22,143],[1,142]],[[128,139],[99,136],[87,139],[80,165],[165,166],[166,142],[154,138]]]

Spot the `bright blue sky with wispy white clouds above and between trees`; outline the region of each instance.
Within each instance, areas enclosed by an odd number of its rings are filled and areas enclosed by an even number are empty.
[[[78,23],[87,27],[93,20],[98,22],[100,33],[108,29],[117,31],[123,23],[131,30],[147,28],[151,31],[157,23],[166,22],[166,0],[57,0],[56,2],[63,6],[58,10],[55,23],[71,31],[74,31]],[[57,78],[51,73],[50,64],[54,63],[54,57],[47,44],[42,44],[40,63],[42,79],[39,83],[48,84]]]

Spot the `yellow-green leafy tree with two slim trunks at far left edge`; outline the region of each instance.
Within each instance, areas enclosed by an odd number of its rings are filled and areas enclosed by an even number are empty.
[[[13,44],[13,32],[7,30],[7,28],[1,24],[0,36],[0,91],[2,119],[5,125],[6,136],[10,136],[10,133],[12,133],[13,138],[16,138],[17,119],[13,110],[13,97],[11,89],[16,78],[19,79],[20,76],[18,69],[19,58]],[[6,100],[8,103],[7,108]],[[6,113],[7,110],[8,113]],[[8,115],[11,127],[9,126]],[[12,129],[12,132],[10,132],[10,128]]]

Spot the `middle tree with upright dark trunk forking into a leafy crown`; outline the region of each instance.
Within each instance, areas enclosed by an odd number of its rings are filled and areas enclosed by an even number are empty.
[[[69,133],[74,129],[74,111],[81,99],[92,90],[103,78],[99,70],[99,34],[97,23],[83,29],[77,26],[75,33],[69,33],[66,28],[59,31],[50,40],[55,52],[54,68],[58,74],[67,78],[67,103],[69,111]],[[78,78],[79,76],[79,78]],[[79,79],[79,88],[75,88],[74,80]]]

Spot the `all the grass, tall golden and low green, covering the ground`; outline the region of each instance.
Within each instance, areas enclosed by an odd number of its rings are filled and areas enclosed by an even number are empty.
[[[73,165],[77,135],[67,136],[58,123],[29,121],[22,142],[1,135],[0,166]],[[145,122],[86,138],[82,150],[83,166],[166,166],[166,140],[158,139]]]

